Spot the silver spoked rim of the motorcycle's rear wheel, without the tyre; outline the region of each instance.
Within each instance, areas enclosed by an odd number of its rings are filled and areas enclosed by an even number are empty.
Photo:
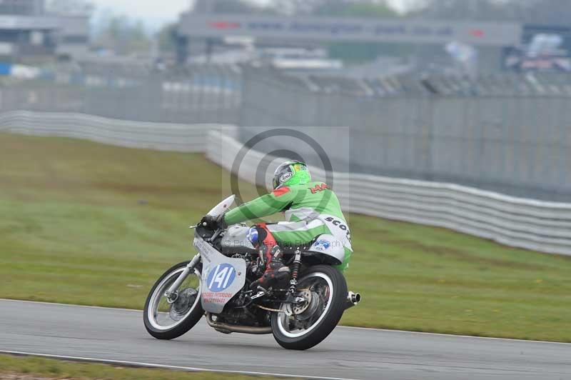
[[[310,301],[293,314],[288,304],[283,304],[278,315],[278,329],[288,338],[298,338],[309,334],[328,314],[333,304],[333,281],[323,273],[312,273],[298,281],[298,289],[304,289],[304,294],[310,294]]]

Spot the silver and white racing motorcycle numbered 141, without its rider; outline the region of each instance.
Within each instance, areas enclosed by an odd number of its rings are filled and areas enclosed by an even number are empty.
[[[222,216],[234,199],[224,199],[208,215]],[[223,334],[273,334],[285,349],[304,350],[323,341],[345,309],[360,301],[333,267],[341,264],[344,251],[332,235],[282,247],[291,269],[289,284],[251,290],[268,263],[249,241],[249,227],[211,230],[199,223],[191,228],[198,254],[168,269],[146,299],[145,327],[157,339],[177,338],[206,315],[208,325]]]

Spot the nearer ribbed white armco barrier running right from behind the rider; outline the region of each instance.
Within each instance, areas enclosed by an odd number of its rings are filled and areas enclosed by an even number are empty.
[[[243,147],[223,129],[211,131],[206,146],[208,159],[228,170]],[[262,160],[273,161],[258,151],[248,151],[236,174],[250,183],[268,184],[267,178],[256,180]],[[311,170],[315,178],[325,178],[324,171]],[[335,193],[347,211],[442,226],[508,246],[571,255],[571,204],[438,182],[348,173],[332,176]]]

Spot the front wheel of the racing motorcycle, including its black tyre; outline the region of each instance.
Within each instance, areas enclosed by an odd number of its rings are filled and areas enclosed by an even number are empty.
[[[204,314],[201,305],[201,264],[186,276],[170,300],[165,291],[186,269],[189,261],[176,264],[156,281],[148,294],[143,319],[148,334],[156,339],[175,339],[185,334]]]

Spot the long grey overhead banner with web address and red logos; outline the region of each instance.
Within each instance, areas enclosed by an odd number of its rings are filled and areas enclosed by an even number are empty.
[[[178,32],[188,37],[251,36],[307,41],[374,41],[474,46],[512,46],[521,41],[521,24],[510,22],[421,21],[335,17],[181,15]]]

